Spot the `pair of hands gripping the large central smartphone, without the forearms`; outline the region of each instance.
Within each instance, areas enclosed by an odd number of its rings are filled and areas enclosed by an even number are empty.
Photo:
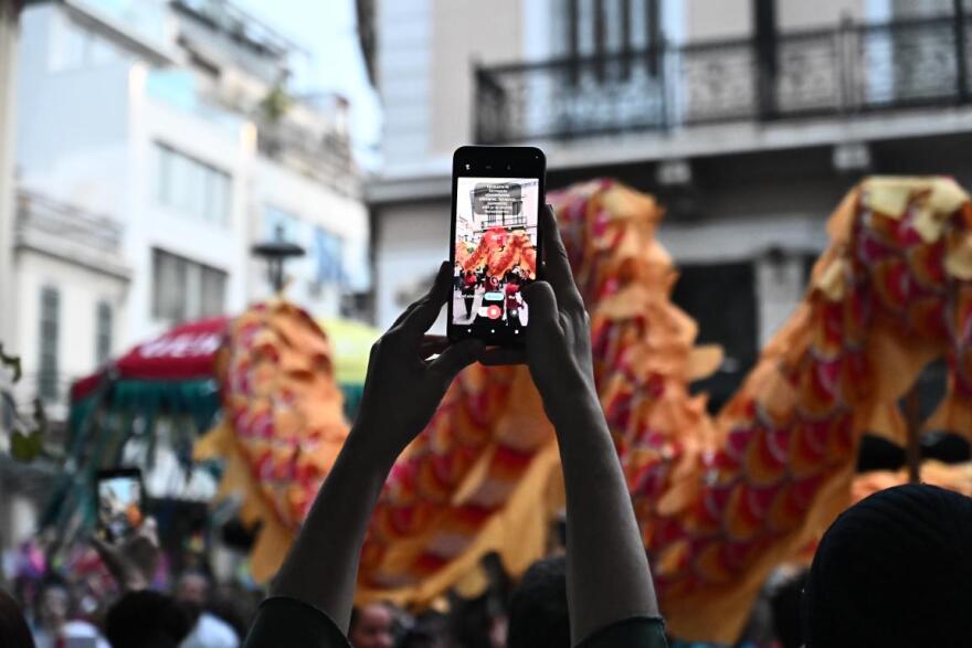
[[[524,349],[487,349],[479,340],[451,344],[425,332],[452,296],[450,264],[439,268],[429,293],[412,304],[371,349],[359,419],[351,432],[367,435],[367,447],[385,463],[429,424],[445,391],[464,368],[526,363],[548,416],[558,424],[573,403],[596,402],[591,360],[590,319],[573,281],[557,219],[549,205],[540,213],[546,280],[522,290],[530,308]],[[431,355],[440,353],[434,360]]]

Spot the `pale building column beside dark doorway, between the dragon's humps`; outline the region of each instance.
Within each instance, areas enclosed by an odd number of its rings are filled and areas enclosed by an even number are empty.
[[[756,259],[759,350],[762,351],[803,299],[803,259],[779,251]]]

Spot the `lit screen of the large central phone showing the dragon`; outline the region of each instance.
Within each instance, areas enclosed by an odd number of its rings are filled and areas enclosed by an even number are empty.
[[[452,325],[516,340],[529,325],[522,289],[537,278],[537,178],[456,179]]]

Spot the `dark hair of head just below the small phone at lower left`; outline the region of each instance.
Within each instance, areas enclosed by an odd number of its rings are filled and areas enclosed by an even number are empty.
[[[191,630],[189,614],[175,598],[148,589],[126,594],[105,618],[112,648],[178,648]]]

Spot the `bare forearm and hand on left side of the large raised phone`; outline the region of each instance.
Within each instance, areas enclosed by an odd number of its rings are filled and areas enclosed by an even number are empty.
[[[424,334],[452,295],[451,279],[445,263],[429,294],[372,348],[358,421],[271,588],[272,596],[324,612],[344,633],[364,533],[388,472],[432,418],[456,374],[482,350],[478,341],[447,346]],[[425,360],[437,351],[436,359]]]

